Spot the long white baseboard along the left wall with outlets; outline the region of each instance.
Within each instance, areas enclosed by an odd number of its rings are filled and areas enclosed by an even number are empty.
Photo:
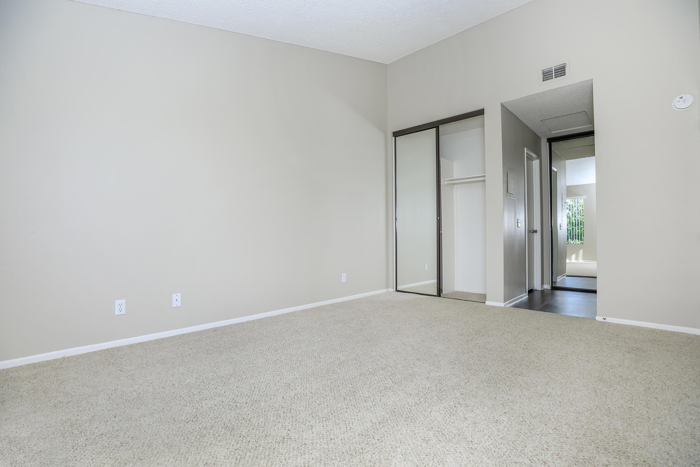
[[[377,293],[384,293],[384,292],[389,292],[389,291],[393,291],[393,289],[384,288],[381,291],[358,293],[357,295],[350,295],[349,297],[333,298],[331,300],[324,300],[323,302],[309,303],[308,305],[299,305],[298,307],[276,309],[273,312],[251,314],[250,316],[242,316],[241,318],[226,319],[224,321],[216,321],[215,323],[199,324],[197,326],[190,326],[189,328],[166,330],[166,331],[163,331],[162,333],[139,335],[137,337],[127,337],[126,339],[113,340],[110,342],[102,342],[101,344],[83,345],[82,347],[73,347],[72,349],[55,350],[52,352],[47,352],[45,354],[31,355],[31,356],[20,357],[20,358],[13,358],[12,360],[0,361],[0,370],[2,370],[3,368],[12,368],[13,366],[28,365],[29,363],[36,363],[38,361],[52,360],[53,358],[61,358],[64,356],[71,356],[71,355],[78,355],[78,354],[87,354],[87,352],[93,352],[93,351],[102,350],[102,349],[109,349],[111,347],[120,347],[122,345],[137,344],[138,342],[146,342],[148,340],[162,339],[163,337],[170,337],[173,335],[193,333],[197,330],[218,328],[219,326],[228,326],[229,324],[242,323],[244,321],[252,321],[253,319],[266,318],[267,316],[275,316],[276,314],[296,312],[296,311],[299,311],[300,309],[320,307],[321,305],[330,305],[331,303],[344,302],[346,300],[354,300],[355,298],[368,297],[370,295],[377,295]]]

